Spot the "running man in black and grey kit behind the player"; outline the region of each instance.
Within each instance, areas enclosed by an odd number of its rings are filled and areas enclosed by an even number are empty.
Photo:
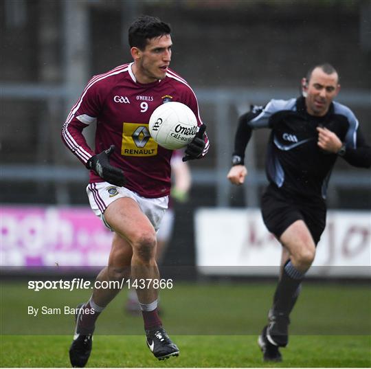
[[[315,65],[302,79],[303,97],[271,100],[240,117],[232,168],[227,175],[244,182],[245,148],[254,128],[271,128],[267,154],[269,186],[262,195],[262,217],[282,244],[282,272],[269,324],[258,344],[266,361],[281,361],[280,347],[288,344],[289,315],[315,247],[326,224],[326,189],[337,157],[352,166],[370,168],[371,148],[352,111],[333,102],[339,76],[328,63]]]

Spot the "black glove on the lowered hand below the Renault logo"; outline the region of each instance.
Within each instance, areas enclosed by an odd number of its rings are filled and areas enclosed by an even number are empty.
[[[92,156],[87,161],[87,168],[94,170],[104,181],[121,187],[126,183],[124,172],[109,164],[109,157],[114,150],[115,145],[111,145],[107,150],[102,151],[102,153]]]

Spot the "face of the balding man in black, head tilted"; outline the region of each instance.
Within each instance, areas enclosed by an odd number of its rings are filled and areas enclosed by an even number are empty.
[[[331,102],[337,96],[340,85],[337,73],[326,74],[315,68],[306,87],[306,111],[311,115],[323,116],[328,112]]]

